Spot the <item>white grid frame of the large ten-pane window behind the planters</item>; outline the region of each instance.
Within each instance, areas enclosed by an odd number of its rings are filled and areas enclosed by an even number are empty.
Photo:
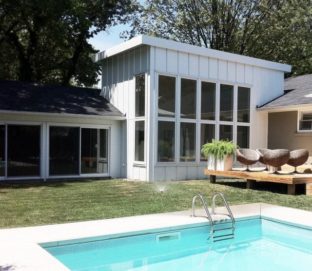
[[[176,117],[158,117],[158,75],[162,76],[171,76],[176,78]],[[181,78],[193,79],[197,81],[196,84],[196,118],[195,119],[187,119],[180,118],[180,92],[181,92]],[[216,84],[215,89],[215,120],[202,120],[201,119],[201,82],[210,82]],[[233,105],[233,121],[220,121],[220,84],[232,85],[234,86],[234,105]],[[250,121],[249,122],[238,122],[237,121],[237,93],[238,87],[247,87],[250,88]],[[253,105],[253,85],[245,84],[245,83],[236,83],[233,81],[225,81],[211,78],[202,78],[202,77],[194,77],[194,76],[186,76],[179,75],[170,72],[155,72],[155,135],[158,135],[158,121],[173,121],[175,122],[175,162],[157,162],[157,149],[158,142],[156,140],[154,144],[154,165],[176,165],[176,166],[186,166],[186,165],[205,165],[206,161],[200,161],[200,126],[201,124],[214,124],[215,125],[215,140],[219,140],[219,125],[232,125],[233,126],[233,142],[236,144],[237,142],[237,126],[249,126],[252,127],[251,122],[253,119],[254,110],[252,108]],[[194,122],[196,123],[196,149],[195,149],[195,162],[180,162],[180,123],[181,122]],[[249,128],[249,146],[251,147],[251,139],[253,138],[253,131]],[[156,136],[157,139],[157,136]],[[235,162],[235,161],[234,161]]]

